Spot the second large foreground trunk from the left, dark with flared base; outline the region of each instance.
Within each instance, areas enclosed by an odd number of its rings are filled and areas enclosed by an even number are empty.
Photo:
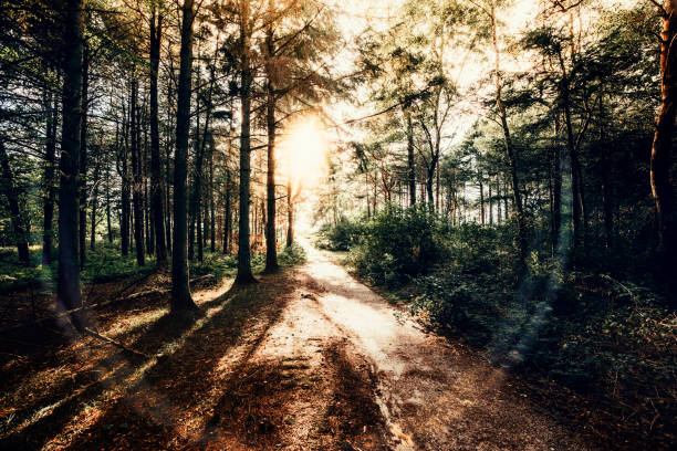
[[[181,7],[181,49],[176,112],[176,153],[174,161],[174,247],[171,249],[171,311],[196,310],[188,284],[186,259],[186,176],[190,133],[190,84],[192,67],[194,0]]]

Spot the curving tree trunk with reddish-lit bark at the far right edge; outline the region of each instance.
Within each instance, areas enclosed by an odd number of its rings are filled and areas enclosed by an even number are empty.
[[[675,211],[675,186],[670,180],[673,134],[677,114],[677,6],[666,0],[660,36],[660,112],[656,119],[656,132],[652,146],[650,183],[656,203],[658,221],[659,254],[665,279],[669,281],[673,302],[677,303],[677,212]]]

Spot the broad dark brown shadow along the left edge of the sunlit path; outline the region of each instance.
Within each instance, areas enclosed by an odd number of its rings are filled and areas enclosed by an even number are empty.
[[[149,335],[165,337],[164,344],[158,346],[144,336],[135,345],[164,357],[137,367],[136,371],[143,370],[140,377],[102,406],[103,412],[69,440],[66,448],[191,445],[191,430],[199,430],[212,408],[210,400],[221,392],[223,361],[240,366],[249,360],[284,310],[294,290],[290,282],[282,273],[231,290],[204,303],[204,316],[188,329],[171,331],[170,319],[158,322]]]

